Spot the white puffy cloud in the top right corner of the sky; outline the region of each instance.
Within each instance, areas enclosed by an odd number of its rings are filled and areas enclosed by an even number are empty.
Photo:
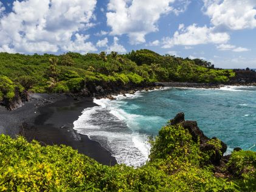
[[[230,30],[256,27],[255,0],[203,0],[204,13],[211,18],[213,26]]]

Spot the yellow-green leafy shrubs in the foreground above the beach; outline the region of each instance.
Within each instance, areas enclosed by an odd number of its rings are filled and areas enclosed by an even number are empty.
[[[164,126],[150,143],[150,160],[132,168],[0,135],[0,191],[255,191],[255,152],[234,152],[224,178],[214,176],[210,154],[180,125]]]

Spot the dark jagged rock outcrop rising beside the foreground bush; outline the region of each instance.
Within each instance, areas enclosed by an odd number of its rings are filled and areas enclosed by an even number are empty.
[[[179,113],[176,115],[175,118],[170,120],[171,125],[178,125],[180,124],[185,129],[189,130],[189,133],[192,135],[192,140],[194,142],[200,142],[200,150],[207,152],[207,151],[214,151],[212,156],[210,157],[210,162],[213,165],[220,165],[221,159],[223,158],[223,154],[227,150],[227,145],[224,142],[221,142],[221,149],[217,148],[215,145],[208,143],[209,140],[217,140],[216,137],[209,139],[206,137],[204,133],[198,128],[198,124],[194,121],[185,121],[184,113]]]

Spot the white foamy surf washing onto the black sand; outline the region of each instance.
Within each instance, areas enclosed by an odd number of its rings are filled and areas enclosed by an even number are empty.
[[[129,94],[128,97],[134,95]],[[86,108],[74,122],[74,129],[108,149],[116,157],[117,163],[137,167],[147,161],[150,145],[147,143],[147,135],[137,132],[139,123],[136,120],[144,116],[129,114],[120,109],[120,106],[126,104],[123,98],[113,101],[106,98],[94,99],[94,103],[99,106]]]

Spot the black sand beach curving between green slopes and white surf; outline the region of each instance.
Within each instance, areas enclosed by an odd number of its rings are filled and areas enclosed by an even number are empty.
[[[103,165],[115,165],[116,159],[109,151],[73,129],[83,109],[93,106],[92,98],[74,100],[63,94],[32,94],[31,101],[15,111],[0,107],[0,134],[21,134],[42,145],[72,146]]]

